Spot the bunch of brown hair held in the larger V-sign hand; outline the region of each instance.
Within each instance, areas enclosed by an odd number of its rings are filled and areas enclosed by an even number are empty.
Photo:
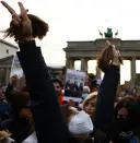
[[[48,32],[48,24],[36,15],[27,14],[27,16],[32,22],[33,38],[43,39],[43,37],[46,36]],[[21,26],[22,25],[15,26],[11,22],[10,27],[4,31],[4,37],[14,37],[15,41],[23,40],[22,34],[21,34],[22,33]]]

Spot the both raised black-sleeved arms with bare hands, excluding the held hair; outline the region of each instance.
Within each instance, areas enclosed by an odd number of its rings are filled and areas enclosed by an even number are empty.
[[[38,143],[67,143],[69,139],[68,129],[63,122],[48,69],[42,56],[40,47],[36,47],[32,22],[26,14],[27,10],[25,10],[20,2],[21,15],[19,16],[5,2],[2,2],[2,4],[12,14],[11,25],[21,27],[19,29],[21,32],[20,38],[15,31],[13,31],[12,36],[14,36],[19,43],[20,51],[18,52],[18,57],[26,78],[31,99],[34,102],[33,117],[37,141]],[[119,80],[119,53],[115,48],[113,55],[113,63],[104,67],[105,76],[100,88],[94,118],[96,129],[103,131],[106,131],[108,128],[107,126],[112,122],[113,100]],[[110,106],[108,104],[110,104]],[[108,115],[104,115],[103,111],[105,111],[105,114],[108,112]],[[104,115],[105,118],[101,115]]]

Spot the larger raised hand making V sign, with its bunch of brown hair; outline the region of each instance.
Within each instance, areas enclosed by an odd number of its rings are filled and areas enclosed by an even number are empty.
[[[48,32],[48,24],[39,17],[27,14],[28,10],[19,2],[21,13],[18,14],[7,2],[1,3],[12,15],[10,27],[4,32],[5,37],[14,37],[15,41],[31,40],[33,38],[42,39]]]

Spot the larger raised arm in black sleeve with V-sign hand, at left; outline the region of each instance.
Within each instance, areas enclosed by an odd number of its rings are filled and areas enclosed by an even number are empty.
[[[3,3],[3,2],[2,2]],[[3,5],[11,12],[11,8]],[[21,36],[13,34],[19,40],[18,57],[23,68],[31,99],[35,103],[33,109],[35,130],[38,143],[67,143],[67,129],[63,123],[58,99],[42,56],[40,47],[33,39],[32,22],[22,3],[19,3],[21,15],[13,13],[12,26],[21,26]],[[16,22],[16,24],[15,24]]]

